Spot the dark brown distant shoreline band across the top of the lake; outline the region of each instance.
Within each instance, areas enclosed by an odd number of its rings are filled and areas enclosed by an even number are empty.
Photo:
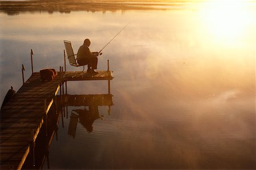
[[[168,10],[172,7],[181,7],[189,1],[0,1],[0,12],[7,15],[18,15],[19,12],[61,12],[71,11],[126,11],[126,10]]]

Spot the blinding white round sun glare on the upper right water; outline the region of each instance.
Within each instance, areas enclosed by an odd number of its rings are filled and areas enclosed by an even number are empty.
[[[208,1],[203,3],[200,13],[212,36],[229,42],[245,35],[254,14],[248,1]]]

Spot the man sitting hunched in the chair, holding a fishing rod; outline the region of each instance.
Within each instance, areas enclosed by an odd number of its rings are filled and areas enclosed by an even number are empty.
[[[80,46],[77,52],[77,62],[79,65],[88,65],[88,73],[98,73],[97,71],[94,71],[94,69],[97,69],[98,52],[91,53],[89,46],[90,40],[85,39],[84,44]]]

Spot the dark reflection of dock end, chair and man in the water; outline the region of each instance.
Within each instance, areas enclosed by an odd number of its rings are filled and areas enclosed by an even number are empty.
[[[113,105],[112,94],[106,95],[65,95],[64,107],[68,106],[84,106],[84,109],[74,109],[70,116],[68,134],[73,138],[76,136],[77,122],[88,131],[93,131],[93,122],[98,118],[103,119],[100,115],[98,106],[108,106],[108,114],[110,115],[110,107]]]

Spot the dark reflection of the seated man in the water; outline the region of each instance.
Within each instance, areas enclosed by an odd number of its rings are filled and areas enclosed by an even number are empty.
[[[74,110],[76,113],[79,114],[79,122],[84,126],[84,128],[91,132],[93,131],[93,122],[98,118],[102,118],[98,112],[97,105],[90,105],[89,110],[87,109],[76,109]]]

